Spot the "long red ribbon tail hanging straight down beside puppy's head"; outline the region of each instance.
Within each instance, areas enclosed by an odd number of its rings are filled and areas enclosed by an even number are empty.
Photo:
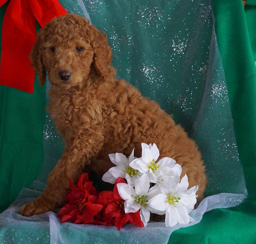
[[[36,40],[35,18],[27,0],[11,0],[4,14],[0,84],[33,93],[30,48]],[[31,82],[33,81],[33,82]]]

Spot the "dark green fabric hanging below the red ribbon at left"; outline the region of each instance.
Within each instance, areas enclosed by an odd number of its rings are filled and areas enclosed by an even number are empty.
[[[7,5],[0,8],[0,26]],[[15,72],[15,62],[10,72]],[[38,81],[34,94],[0,86],[0,212],[38,177],[44,157],[44,107],[45,90]]]

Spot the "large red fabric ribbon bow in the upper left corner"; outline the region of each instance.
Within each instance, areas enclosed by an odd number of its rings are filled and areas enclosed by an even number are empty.
[[[0,0],[2,7],[7,0]],[[0,84],[33,93],[34,70],[29,54],[36,41],[36,19],[41,27],[68,13],[58,0],[10,0],[4,14]]]

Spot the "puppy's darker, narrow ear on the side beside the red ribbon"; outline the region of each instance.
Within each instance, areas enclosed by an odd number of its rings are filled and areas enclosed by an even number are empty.
[[[41,44],[42,44],[42,37],[40,36],[40,33],[39,33],[38,39],[36,40],[34,47],[30,53],[30,59],[32,61],[31,65],[34,67],[38,75],[39,84],[43,86],[45,83],[46,72],[45,72],[45,66],[43,65],[43,60],[42,60]]]

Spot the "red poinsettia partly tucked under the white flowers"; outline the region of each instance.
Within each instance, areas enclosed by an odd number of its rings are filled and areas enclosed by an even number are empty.
[[[120,230],[125,223],[130,223],[138,227],[144,227],[139,211],[136,213],[124,212],[124,200],[118,193],[118,183],[126,183],[126,181],[123,178],[118,177],[115,182],[113,192],[101,192],[105,199],[109,199],[109,202],[105,207],[105,213],[109,215],[109,218],[113,219],[113,222],[118,230]]]

